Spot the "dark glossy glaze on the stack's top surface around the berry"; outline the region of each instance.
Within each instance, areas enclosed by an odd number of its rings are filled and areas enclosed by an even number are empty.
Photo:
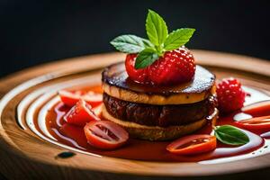
[[[103,83],[114,85],[121,89],[126,89],[136,93],[145,94],[193,94],[210,91],[212,85],[215,83],[215,76],[207,69],[196,66],[195,76],[193,81],[174,86],[153,86],[153,85],[140,85],[134,83],[128,78],[123,63],[114,64],[106,67],[103,70]]]

